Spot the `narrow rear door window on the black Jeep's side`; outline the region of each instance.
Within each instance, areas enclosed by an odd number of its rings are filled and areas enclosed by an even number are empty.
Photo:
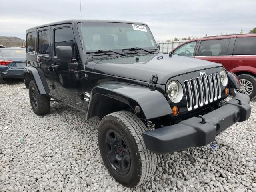
[[[38,53],[49,55],[49,30],[38,32]]]

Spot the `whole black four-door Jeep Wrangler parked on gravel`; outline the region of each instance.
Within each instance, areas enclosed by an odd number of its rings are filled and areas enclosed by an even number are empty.
[[[31,51],[33,50],[33,51]],[[51,98],[100,120],[98,145],[124,186],[148,180],[156,154],[204,146],[249,118],[250,98],[221,64],[160,54],[147,24],[67,20],[26,32],[24,81],[33,111]]]

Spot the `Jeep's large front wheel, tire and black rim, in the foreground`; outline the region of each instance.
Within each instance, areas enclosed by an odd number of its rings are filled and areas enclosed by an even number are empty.
[[[108,114],[100,122],[100,154],[110,174],[124,186],[138,186],[155,172],[156,154],[146,149],[142,137],[147,130],[139,118],[126,111]]]

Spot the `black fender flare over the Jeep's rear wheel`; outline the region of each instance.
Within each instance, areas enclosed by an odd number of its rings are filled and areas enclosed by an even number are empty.
[[[34,80],[36,83],[37,89],[41,95],[50,93],[50,89],[46,82],[46,78],[44,76],[44,72],[40,68],[36,68],[33,66],[28,66],[24,68],[24,81],[30,82],[30,80]],[[26,84],[26,88],[28,85]]]

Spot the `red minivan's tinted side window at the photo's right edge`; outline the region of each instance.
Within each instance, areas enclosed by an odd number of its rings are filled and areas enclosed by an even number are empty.
[[[256,37],[236,38],[233,55],[255,55]]]

